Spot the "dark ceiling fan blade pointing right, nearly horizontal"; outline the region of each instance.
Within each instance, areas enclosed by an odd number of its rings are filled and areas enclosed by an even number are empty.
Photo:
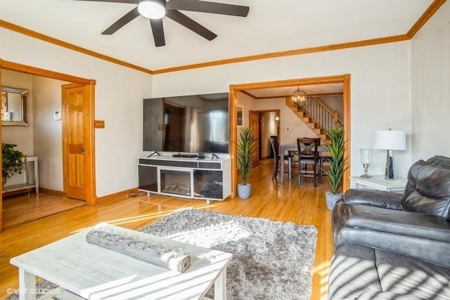
[[[199,0],[170,0],[166,4],[167,9],[180,11],[200,11],[201,13],[218,13],[220,15],[236,15],[246,17],[249,7],[234,4],[223,4]]]

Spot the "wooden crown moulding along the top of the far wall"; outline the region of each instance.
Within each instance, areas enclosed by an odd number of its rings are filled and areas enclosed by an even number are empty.
[[[153,74],[162,74],[168,72],[178,72],[184,70],[198,69],[200,67],[212,67],[216,65],[227,65],[231,63],[244,63],[251,60],[263,60],[269,58],[280,58],[283,56],[299,56],[302,54],[317,53],[324,51],[341,50],[345,48],[356,48],[364,46],[372,46],[378,44],[394,43],[396,41],[407,41],[409,37],[406,34],[394,35],[392,37],[380,37],[378,39],[365,39],[362,41],[349,41],[347,43],[331,44],[326,46],[316,46],[310,48],[300,48],[288,51],[279,51],[272,53],[257,54],[254,56],[242,56],[239,58],[226,58],[224,60],[213,60],[206,63],[195,63],[192,65],[181,65],[179,67],[168,67],[160,70],[153,70]]]

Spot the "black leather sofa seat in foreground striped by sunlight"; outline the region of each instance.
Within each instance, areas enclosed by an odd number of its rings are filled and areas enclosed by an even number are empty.
[[[449,268],[360,244],[340,244],[333,253],[328,299],[449,299],[449,294]]]

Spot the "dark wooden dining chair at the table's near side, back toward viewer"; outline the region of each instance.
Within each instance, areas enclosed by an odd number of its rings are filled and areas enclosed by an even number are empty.
[[[299,153],[298,185],[302,184],[302,176],[304,176],[313,177],[314,187],[317,186],[317,179],[321,177],[321,157],[318,151],[320,144],[320,138],[297,138]]]

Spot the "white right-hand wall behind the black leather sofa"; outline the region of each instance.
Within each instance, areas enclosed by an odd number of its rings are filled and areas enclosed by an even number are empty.
[[[450,2],[411,41],[412,159],[450,157]]]

